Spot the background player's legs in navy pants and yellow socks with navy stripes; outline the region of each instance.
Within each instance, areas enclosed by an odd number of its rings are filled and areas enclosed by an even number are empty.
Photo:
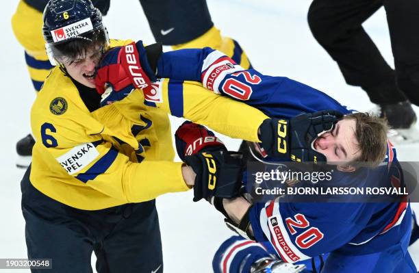
[[[12,17],[12,29],[25,49],[25,61],[36,91],[40,90],[53,68],[41,35],[42,12],[47,3],[48,0],[20,0]],[[103,15],[110,8],[110,0],[94,0],[92,3]],[[140,3],[157,42],[171,45],[173,49],[212,47],[223,51],[243,67],[251,67],[238,42],[221,36],[214,27],[205,0],[141,0]],[[29,166],[33,146],[34,138],[30,134],[16,144],[16,166]]]

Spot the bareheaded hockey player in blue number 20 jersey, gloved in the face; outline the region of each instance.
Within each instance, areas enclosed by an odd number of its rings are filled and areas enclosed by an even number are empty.
[[[246,101],[276,118],[288,119],[301,112],[322,109],[350,113],[314,88],[285,77],[244,70],[223,53],[208,48],[164,53],[157,62],[157,76],[201,81],[213,92]],[[107,99],[112,100],[112,96]],[[364,123],[365,120],[369,123]],[[370,167],[383,162],[374,171],[357,175],[364,184],[369,183],[377,172],[387,174],[390,166],[397,165],[396,151],[386,141],[385,126],[379,123],[370,120],[368,115],[348,115],[333,130],[315,138],[309,135],[312,146],[301,153],[303,160],[315,161],[320,153],[327,161],[365,161]],[[261,131],[264,129],[268,128],[262,126]],[[283,139],[278,136],[271,141],[273,146],[281,146]],[[185,142],[184,138],[180,139]],[[270,148],[266,143],[269,142],[265,141],[265,145],[262,143],[262,148],[257,149],[264,159],[267,156],[264,150]],[[293,148],[291,145],[285,150]],[[355,171],[356,167],[342,164],[338,170]],[[411,210],[406,199],[398,203],[328,204],[271,200],[252,205],[244,198],[236,198],[218,201],[216,208],[258,242],[243,241],[239,237],[229,239],[214,258],[216,272],[249,272],[261,258],[272,261],[275,257],[296,263],[327,252],[330,254],[322,272],[416,272],[407,252]],[[238,212],[234,212],[234,208]]]

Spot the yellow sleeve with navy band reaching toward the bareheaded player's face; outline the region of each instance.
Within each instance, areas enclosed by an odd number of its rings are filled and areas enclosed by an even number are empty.
[[[214,94],[194,81],[164,79],[156,103],[168,114],[183,117],[230,136],[259,142],[257,129],[268,118],[258,109]]]

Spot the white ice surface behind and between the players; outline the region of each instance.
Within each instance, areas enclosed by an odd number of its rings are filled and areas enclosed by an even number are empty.
[[[132,38],[152,43],[153,36],[137,0],[112,0],[105,23],[112,38]],[[309,0],[208,0],[212,19],[225,36],[238,40],[255,68],[267,75],[287,76],[360,111],[373,105],[360,88],[346,85],[338,66],[314,40],[307,25]],[[25,223],[21,214],[19,181],[15,168],[16,141],[29,133],[29,109],[35,94],[26,70],[23,49],[16,42],[10,18],[18,0],[4,1],[0,9],[0,258],[24,258]],[[379,10],[364,26],[393,66],[385,12]],[[33,31],[33,29],[27,29]],[[415,108],[416,110],[418,108]],[[246,117],[244,117],[246,118]],[[172,129],[181,120],[173,118]],[[239,140],[223,138],[229,148]],[[398,146],[398,158],[415,161],[419,144]],[[204,202],[192,203],[192,192],[157,198],[166,272],[212,272],[211,261],[229,232],[216,211]],[[410,249],[416,264],[419,244]],[[1,272],[1,270],[0,270]],[[13,270],[13,272],[27,272]]]

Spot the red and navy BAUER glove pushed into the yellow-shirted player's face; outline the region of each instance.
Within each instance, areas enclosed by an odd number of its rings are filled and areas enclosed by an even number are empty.
[[[144,97],[153,94],[151,83],[156,80],[155,63],[161,53],[161,44],[144,47],[142,41],[107,51],[94,79],[97,92],[102,95],[101,106],[124,99],[134,89],[142,89]]]

